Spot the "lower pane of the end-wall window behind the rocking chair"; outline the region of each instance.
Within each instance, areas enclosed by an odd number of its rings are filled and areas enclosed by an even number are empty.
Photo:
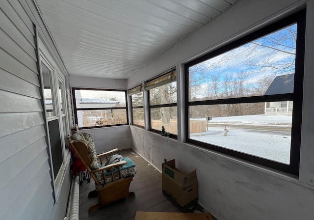
[[[78,110],[78,127],[127,124],[127,110]]]

